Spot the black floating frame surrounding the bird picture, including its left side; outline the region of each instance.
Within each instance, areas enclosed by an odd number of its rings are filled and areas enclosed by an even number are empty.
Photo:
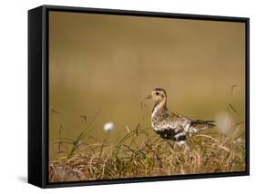
[[[246,170],[209,174],[174,175],[165,177],[89,180],[82,182],[48,182],[48,13],[77,12],[100,15],[136,15],[205,21],[244,23],[246,72]],[[173,179],[202,179],[243,176],[250,174],[250,19],[214,15],[185,15],[143,11],[112,10],[56,5],[42,5],[28,11],[28,182],[40,188],[131,183]]]

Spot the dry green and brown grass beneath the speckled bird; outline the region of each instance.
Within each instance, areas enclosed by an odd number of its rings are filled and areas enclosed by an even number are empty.
[[[230,102],[227,106],[226,118],[231,112],[240,115]],[[50,142],[52,150],[56,150],[49,160],[50,182],[245,170],[242,121],[231,126],[228,133],[218,128],[201,131],[182,146],[160,139],[151,128],[143,129],[139,123],[133,130],[127,126],[126,131],[121,131],[118,141],[110,141],[108,134],[104,141],[97,142],[90,131],[99,113],[87,124],[87,131],[74,140],[62,137],[64,129],[60,126],[58,138]]]

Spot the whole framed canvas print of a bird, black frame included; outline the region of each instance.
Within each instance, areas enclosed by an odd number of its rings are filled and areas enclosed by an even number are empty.
[[[249,18],[28,11],[31,184],[249,175],[249,118]]]

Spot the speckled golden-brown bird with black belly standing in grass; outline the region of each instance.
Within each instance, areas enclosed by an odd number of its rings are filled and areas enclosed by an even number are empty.
[[[185,144],[187,136],[215,127],[214,121],[193,120],[182,114],[169,112],[167,108],[167,92],[156,88],[146,99],[154,102],[151,112],[151,125],[160,138]]]

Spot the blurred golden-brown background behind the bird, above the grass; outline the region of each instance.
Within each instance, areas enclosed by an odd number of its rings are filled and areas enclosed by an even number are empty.
[[[150,127],[153,103],[144,97],[156,87],[166,89],[170,111],[211,120],[232,103],[234,120],[244,121],[244,86],[245,24],[49,13],[50,140],[60,125],[63,137],[77,137],[99,110],[97,142],[109,121],[113,141],[126,126]]]

